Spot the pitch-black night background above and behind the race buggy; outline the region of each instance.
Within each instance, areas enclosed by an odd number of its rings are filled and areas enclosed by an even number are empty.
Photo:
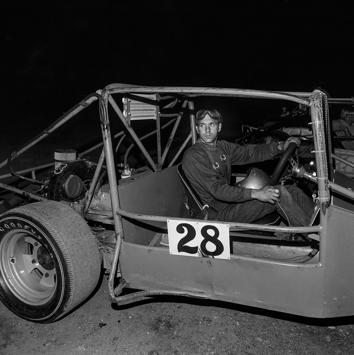
[[[293,0],[6,2],[1,110],[2,129],[10,134],[3,135],[4,159],[17,148],[14,136],[21,144],[28,141],[111,83],[301,92],[321,87],[331,97],[350,98],[352,9],[344,2]],[[222,112],[220,137],[229,141],[241,135],[241,123],[261,125],[279,117],[283,105],[295,107],[279,100],[196,98],[194,103],[196,110],[208,105]],[[340,110],[330,108],[331,119],[339,118]],[[76,142],[70,148],[78,151],[92,146],[101,140],[97,118],[93,105],[31,154],[48,163],[63,136]],[[177,131],[181,142],[187,121]],[[133,128],[141,136],[153,130],[149,124],[140,121]],[[111,125],[113,133],[123,128],[119,120]],[[132,142],[125,139],[118,159]],[[166,142],[162,138],[162,146]],[[156,149],[155,138],[145,145]],[[134,148],[132,157],[137,154]],[[23,168],[24,163],[13,164]]]

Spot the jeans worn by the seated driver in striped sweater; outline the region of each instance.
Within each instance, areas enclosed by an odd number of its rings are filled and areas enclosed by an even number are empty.
[[[281,193],[279,204],[271,204],[258,200],[230,203],[219,211],[216,220],[251,223],[277,210],[278,213],[287,220],[283,211],[285,212],[292,226],[310,225],[314,209],[314,203],[311,198],[293,185],[276,185],[274,188],[278,189]]]

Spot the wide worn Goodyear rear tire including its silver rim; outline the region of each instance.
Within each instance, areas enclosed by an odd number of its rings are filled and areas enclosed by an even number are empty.
[[[0,299],[21,318],[59,319],[92,293],[100,271],[95,237],[67,205],[41,201],[0,216]]]

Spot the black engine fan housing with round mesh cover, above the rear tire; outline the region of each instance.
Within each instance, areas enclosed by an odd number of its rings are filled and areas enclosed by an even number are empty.
[[[48,183],[48,198],[76,202],[85,196],[85,181],[92,180],[95,166],[87,160],[59,165]]]

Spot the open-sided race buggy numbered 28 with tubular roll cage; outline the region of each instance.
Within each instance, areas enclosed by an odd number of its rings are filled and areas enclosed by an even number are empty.
[[[238,186],[255,189],[287,179],[316,186],[311,190],[316,203],[309,226],[287,225],[277,213],[254,223],[215,220],[215,211],[203,204],[181,164],[175,164],[189,141],[197,141],[193,100],[202,96],[288,100],[309,108],[312,162],[300,164],[291,144],[276,160],[271,177],[258,168],[232,174]],[[53,163],[12,168],[13,159],[95,101],[100,144],[78,155],[57,149]],[[108,105],[124,126],[116,134],[111,134]],[[176,108],[177,113],[169,113]],[[169,121],[161,126],[162,119]],[[141,120],[156,127],[138,137],[133,127]],[[190,125],[190,131],[167,164],[181,122]],[[161,132],[169,125],[173,128],[162,152]],[[155,133],[157,161],[142,144]],[[129,167],[133,145],[123,163],[115,161],[128,134],[148,165]],[[102,146],[97,163],[84,159]],[[109,300],[118,305],[180,295],[307,317],[353,315],[354,180],[333,169],[333,159],[354,167],[332,153],[328,100],[318,90],[109,85],[85,97],[0,164],[10,169],[2,179],[16,175],[31,183],[24,190],[0,183],[14,193],[2,201],[6,211],[0,215],[0,299],[26,320],[53,322],[92,293],[103,268],[109,272]],[[36,171],[48,167],[48,176],[37,180]],[[140,291],[126,293],[125,288]]]

